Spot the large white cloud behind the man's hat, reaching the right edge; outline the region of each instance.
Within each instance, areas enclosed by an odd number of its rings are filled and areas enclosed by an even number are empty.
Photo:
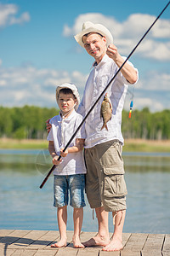
[[[114,44],[120,49],[122,55],[128,55],[143,37],[144,32],[156,20],[156,17],[133,14],[127,17],[127,20],[119,22],[113,17],[99,13],[83,14],[77,17],[72,27],[64,26],[64,36],[76,35],[82,30],[82,23],[86,20],[106,26],[111,31]],[[135,54],[157,61],[170,61],[170,20],[157,20],[142,44],[136,49]]]

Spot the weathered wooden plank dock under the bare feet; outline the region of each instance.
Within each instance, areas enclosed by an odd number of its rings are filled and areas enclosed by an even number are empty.
[[[104,252],[102,247],[73,248],[72,231],[67,231],[67,246],[52,248],[59,240],[54,230],[0,230],[0,256],[170,256],[170,234],[123,233],[123,249],[120,252]],[[95,236],[82,232],[81,240]]]

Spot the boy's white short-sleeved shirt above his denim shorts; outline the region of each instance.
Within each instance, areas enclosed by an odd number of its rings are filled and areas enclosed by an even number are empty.
[[[48,141],[54,142],[56,154],[59,155],[60,148],[65,148],[66,143],[68,143],[81,122],[82,115],[75,110],[73,110],[65,119],[62,119],[60,115],[56,115],[50,120],[52,128],[48,133],[47,139]],[[85,131],[83,127],[77,132],[76,137],[73,138],[69,147],[76,145],[77,138],[85,139]],[[56,166],[54,169],[54,175],[74,175],[86,172],[82,151],[67,154],[67,156],[62,159],[59,166]]]

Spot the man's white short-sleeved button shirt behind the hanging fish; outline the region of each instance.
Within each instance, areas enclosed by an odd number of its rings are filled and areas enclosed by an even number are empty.
[[[133,66],[131,62],[128,64]],[[88,110],[94,105],[94,102],[98,99],[99,95],[105,89],[107,84],[116,74],[119,67],[116,63],[105,55],[102,61],[97,66],[94,66],[93,70],[89,74],[82,102],[78,108],[78,113],[86,115]],[[135,69],[138,73],[138,70]],[[122,108],[127,93],[128,81],[119,72],[116,78],[111,82],[110,87],[105,91],[111,99],[112,103],[112,116],[111,120],[107,122],[108,131],[104,128],[101,130],[103,120],[100,116],[101,103],[104,99],[102,96],[99,102],[95,105],[94,109],[88,115],[85,122],[86,140],[85,148],[92,148],[99,143],[105,143],[107,141],[118,139],[123,143],[122,137]]]

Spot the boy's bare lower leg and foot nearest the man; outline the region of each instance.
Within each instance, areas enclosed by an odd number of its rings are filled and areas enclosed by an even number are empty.
[[[74,220],[74,235],[72,237],[73,246],[76,248],[83,248],[83,244],[80,241],[80,233],[82,230],[83,208],[74,208],[73,220]]]

